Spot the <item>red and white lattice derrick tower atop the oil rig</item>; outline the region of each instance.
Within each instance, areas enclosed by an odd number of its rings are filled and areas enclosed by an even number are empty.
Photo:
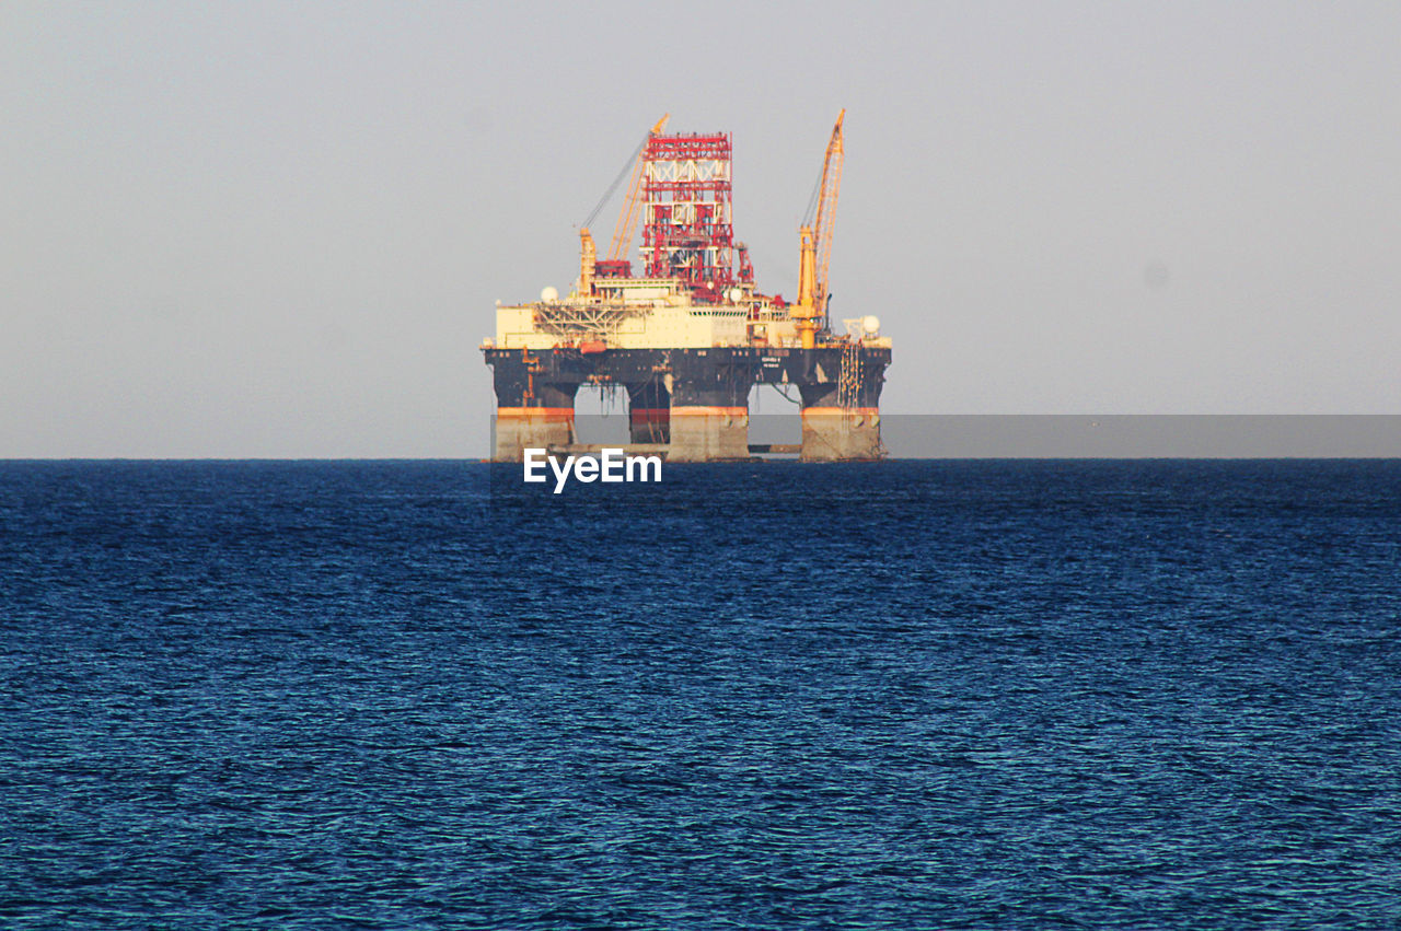
[[[653,134],[643,150],[643,274],[716,300],[734,284],[730,136]]]

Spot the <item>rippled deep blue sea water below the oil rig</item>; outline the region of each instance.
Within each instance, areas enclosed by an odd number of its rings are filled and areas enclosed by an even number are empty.
[[[1397,927],[1401,462],[0,463],[0,925]]]

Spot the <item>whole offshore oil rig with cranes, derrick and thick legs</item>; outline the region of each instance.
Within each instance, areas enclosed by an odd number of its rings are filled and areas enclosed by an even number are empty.
[[[729,133],[663,134],[665,116],[653,126],[629,160],[632,181],[608,256],[598,258],[588,231],[604,195],[579,231],[579,279],[569,295],[545,288],[532,304],[497,302],[496,336],[482,342],[496,388],[493,458],[516,462],[527,448],[594,451],[579,444],[574,396],[584,385],[622,385],[632,452],[668,462],[764,452],[878,459],[890,339],[873,315],[843,321],[841,333],[828,318],[845,113],[799,230],[792,304],[759,293],[748,249],[734,241]],[[629,251],[639,220],[635,276]],[[754,385],[797,392],[789,398],[801,409],[800,445],[748,442]]]

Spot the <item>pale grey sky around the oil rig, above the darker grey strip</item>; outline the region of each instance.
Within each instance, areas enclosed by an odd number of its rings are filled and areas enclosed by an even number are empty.
[[[1401,413],[1398,48],[1395,3],[7,0],[0,458],[485,455],[495,302],[567,290],[668,112],[792,297],[846,109],[888,413]]]

